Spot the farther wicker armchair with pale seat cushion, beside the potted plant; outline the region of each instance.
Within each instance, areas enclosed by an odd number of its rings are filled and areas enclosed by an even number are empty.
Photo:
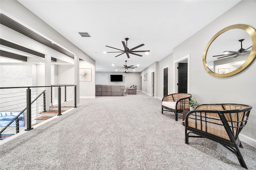
[[[189,109],[189,100],[191,94],[175,93],[164,96],[162,99],[162,114],[163,111],[171,111],[175,114],[175,120],[178,121],[178,113],[182,113],[183,109]]]

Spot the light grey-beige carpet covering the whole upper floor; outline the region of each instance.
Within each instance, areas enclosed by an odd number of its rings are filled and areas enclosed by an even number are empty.
[[[182,115],[136,95],[80,99],[80,106],[0,146],[1,170],[244,170],[208,139],[185,144]],[[249,117],[250,119],[250,117]],[[240,149],[256,169],[256,149]]]

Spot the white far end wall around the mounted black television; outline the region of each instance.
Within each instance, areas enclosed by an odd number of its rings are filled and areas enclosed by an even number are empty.
[[[110,82],[110,74],[122,74],[122,82]],[[123,73],[123,72],[95,72],[95,84],[102,85],[124,85],[124,89],[132,85],[137,85],[137,90],[141,90],[140,72]]]

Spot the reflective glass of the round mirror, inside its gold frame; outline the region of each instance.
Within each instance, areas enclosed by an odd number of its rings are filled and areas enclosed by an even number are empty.
[[[242,66],[251,50],[250,35],[243,29],[230,29],[212,42],[206,56],[206,64],[216,74],[227,74]]]

